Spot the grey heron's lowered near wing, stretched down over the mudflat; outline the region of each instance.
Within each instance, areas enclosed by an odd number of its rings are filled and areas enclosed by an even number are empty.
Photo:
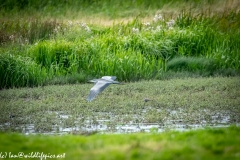
[[[108,76],[106,76],[108,77]],[[87,100],[92,101],[100,92],[102,92],[111,83],[99,80],[90,90]]]

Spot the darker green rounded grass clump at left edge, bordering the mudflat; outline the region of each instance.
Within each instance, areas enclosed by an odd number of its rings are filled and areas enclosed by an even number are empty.
[[[13,54],[0,54],[0,88],[37,86],[46,78],[45,70],[41,70],[30,58]]]

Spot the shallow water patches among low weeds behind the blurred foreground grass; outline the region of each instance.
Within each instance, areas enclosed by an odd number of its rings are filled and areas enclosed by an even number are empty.
[[[142,110],[142,113],[146,113],[147,110]],[[144,117],[141,115],[130,115],[131,118],[141,118],[141,122],[133,121],[132,119],[126,123],[119,120],[121,116],[113,115],[111,113],[96,113],[95,117],[78,117],[74,119],[74,122],[70,125],[64,123],[64,121],[71,119],[71,115],[63,114],[62,112],[54,112],[55,118],[58,123],[50,125],[49,129],[39,130],[33,123],[26,124],[14,124],[14,119],[10,118],[9,122],[0,125],[1,130],[6,130],[8,128],[14,128],[15,130],[22,132],[26,135],[28,134],[91,134],[91,133],[136,133],[136,132],[164,132],[167,130],[177,130],[177,131],[187,131],[190,129],[199,129],[205,127],[228,127],[233,124],[231,122],[230,112],[219,112],[214,113],[204,119],[204,117],[199,114],[195,121],[187,121],[186,119],[176,119],[176,117],[181,117],[179,114],[183,114],[181,109],[179,110],[169,110],[169,117],[175,117],[174,119],[164,118],[158,123],[147,123],[144,122]],[[207,110],[203,112],[208,112]],[[103,118],[102,115],[106,115],[108,119]],[[125,115],[126,116],[126,115]],[[124,116],[123,116],[124,117]],[[13,125],[14,124],[14,125]],[[236,124],[239,125],[239,124]],[[44,128],[44,127],[43,127]]]

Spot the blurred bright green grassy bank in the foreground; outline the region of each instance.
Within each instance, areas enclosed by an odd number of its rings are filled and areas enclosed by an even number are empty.
[[[44,153],[59,159],[239,159],[240,128],[161,134],[44,136],[0,134],[1,156]],[[11,152],[11,154],[10,154]],[[31,159],[31,158],[26,158]],[[50,158],[46,158],[50,159]]]

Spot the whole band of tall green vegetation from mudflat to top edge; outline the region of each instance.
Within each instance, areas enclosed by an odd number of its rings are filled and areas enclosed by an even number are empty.
[[[218,6],[220,12],[211,7],[219,5],[214,0],[4,1],[0,88],[85,82],[103,75],[116,75],[120,81],[159,79],[170,71],[239,74],[236,3]],[[191,9],[163,12],[165,6],[180,4]],[[204,5],[209,7],[202,9]],[[87,15],[114,22],[85,23],[81,17]]]

